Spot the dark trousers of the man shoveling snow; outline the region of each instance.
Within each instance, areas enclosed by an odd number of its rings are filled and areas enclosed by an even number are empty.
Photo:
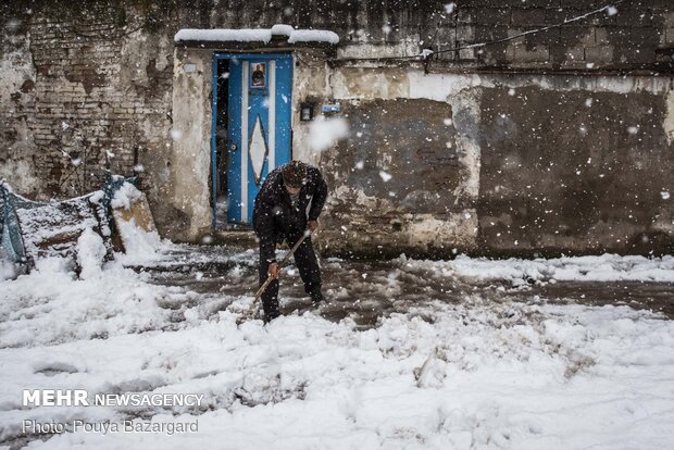
[[[302,237],[302,232],[292,233],[286,237],[288,247],[292,248],[295,243]],[[262,250],[262,248],[260,248]],[[300,271],[300,277],[304,283],[304,291],[312,292],[314,289],[321,289],[321,268],[316,253],[313,251],[311,236],[307,236],[304,241],[295,250],[295,265]],[[260,286],[269,278],[270,263],[260,254]],[[278,317],[278,279],[274,279],[262,292],[262,307],[264,308],[264,316],[267,320]]]

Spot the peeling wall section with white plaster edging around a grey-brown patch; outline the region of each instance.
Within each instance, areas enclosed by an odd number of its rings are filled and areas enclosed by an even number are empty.
[[[330,80],[351,136],[324,155],[334,195],[322,248],[369,257],[476,250],[480,90],[470,89],[479,77],[346,67]]]

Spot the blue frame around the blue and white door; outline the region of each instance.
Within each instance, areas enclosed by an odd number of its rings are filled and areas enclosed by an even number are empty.
[[[220,60],[235,60],[235,59],[255,59],[255,60],[274,60],[279,54],[290,57],[290,67],[292,68],[295,65],[292,52],[289,51],[278,51],[278,52],[264,52],[264,53],[232,53],[232,52],[214,52],[212,59],[212,77],[211,77],[211,90],[212,90],[212,104],[211,104],[211,227],[215,229],[216,227],[216,208],[217,208],[217,141],[215,137],[215,132],[217,128],[217,62]],[[295,71],[292,71],[295,72]],[[294,86],[294,74],[291,72],[290,78],[290,101],[292,101],[292,86]],[[229,83],[229,82],[227,82]],[[290,108],[292,112],[292,108]],[[276,124],[274,124],[276,126]],[[290,113],[290,128],[292,128],[292,113]],[[290,135],[291,136],[291,135]],[[292,138],[290,138],[290,159],[292,159]],[[271,151],[275,151],[275,149],[271,149]],[[225,172],[224,176],[227,176]],[[227,180],[228,182],[228,180]]]

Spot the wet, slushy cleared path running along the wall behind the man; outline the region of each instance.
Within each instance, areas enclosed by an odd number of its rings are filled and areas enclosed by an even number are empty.
[[[282,274],[280,303],[285,314],[315,310],[330,321],[352,318],[363,328],[376,326],[395,312],[429,311],[434,302],[460,303],[482,297],[494,302],[583,303],[628,305],[674,318],[674,284],[642,282],[534,282],[455,276],[432,262],[409,264],[403,259],[383,262],[322,260],[323,290],[328,301],[314,308],[304,295],[298,271]],[[257,252],[217,246],[176,246],[150,264],[135,266],[153,283],[196,292],[192,301],[210,303],[213,313],[258,286]],[[430,309],[432,310],[432,309]],[[428,317],[428,320],[432,320]]]

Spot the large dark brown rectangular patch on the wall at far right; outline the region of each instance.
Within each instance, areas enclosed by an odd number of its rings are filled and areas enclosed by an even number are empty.
[[[486,89],[480,110],[483,246],[667,250],[647,240],[666,233],[657,216],[674,190],[664,96],[503,87]]]

